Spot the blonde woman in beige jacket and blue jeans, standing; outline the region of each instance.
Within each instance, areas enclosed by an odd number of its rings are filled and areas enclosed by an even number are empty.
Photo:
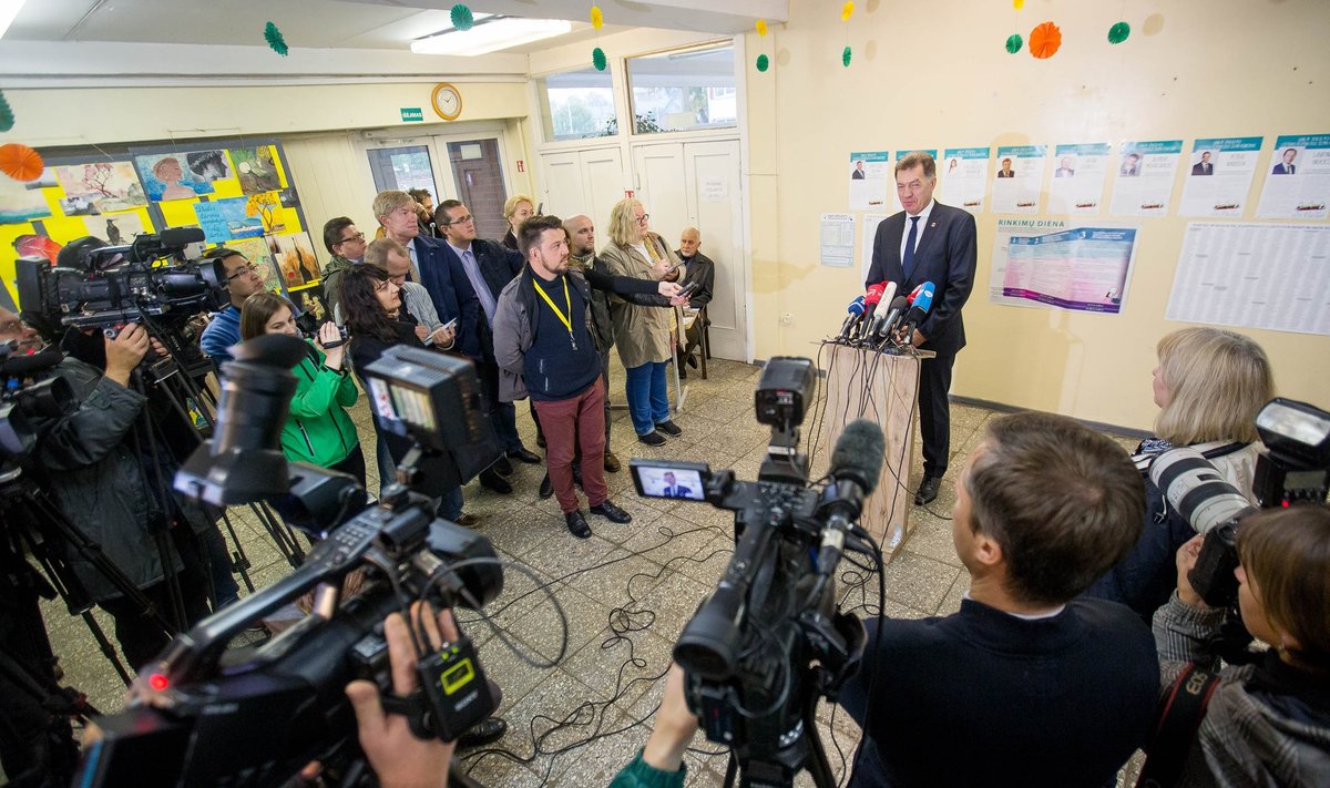
[[[684,274],[681,261],[669,245],[650,229],[650,216],[637,200],[620,200],[609,212],[609,244],[600,250],[609,273],[637,280],[674,280]],[[665,365],[670,347],[672,310],[638,306],[614,296],[610,298],[614,345],[628,373],[628,413],[637,439],[661,446],[661,433],[677,438],[684,431],[670,419]]]

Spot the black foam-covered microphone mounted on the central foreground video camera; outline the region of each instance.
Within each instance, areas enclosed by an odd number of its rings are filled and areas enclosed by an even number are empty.
[[[868,419],[846,425],[831,451],[831,483],[822,491],[818,511],[826,512],[822,547],[818,550],[818,574],[830,576],[841,562],[845,535],[863,511],[863,499],[878,487],[882,458],[887,450],[882,427]]]

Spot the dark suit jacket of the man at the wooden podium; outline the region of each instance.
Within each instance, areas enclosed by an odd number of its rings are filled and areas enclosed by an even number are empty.
[[[934,201],[928,226],[915,246],[914,272],[904,278],[900,266],[900,241],[906,232],[906,212],[888,217],[878,225],[872,240],[872,265],[864,286],[891,281],[896,293],[910,293],[916,285],[932,282],[935,286],[932,309],[918,329],[927,341],[923,350],[939,355],[954,354],[966,346],[966,325],[960,307],[970,298],[975,284],[978,245],[975,217],[959,208]]]

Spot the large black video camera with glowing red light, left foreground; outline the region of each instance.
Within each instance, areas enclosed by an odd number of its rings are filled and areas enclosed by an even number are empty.
[[[282,415],[305,347],[281,334],[235,347],[235,361],[223,365],[218,427],[176,489],[217,504],[290,492],[303,526],[326,538],[294,574],[180,635],[140,672],[129,708],[100,720],[105,737],[85,753],[80,785],[281,785],[313,760],[351,780],[363,767],[343,693],[354,678],[376,680],[386,708],[404,713],[420,737],[452,740],[497,705],[466,636],[422,654],[424,690],[388,703],[384,616],[414,599],[479,608],[503,590],[503,570],[485,538],[435,519],[430,498],[406,485],[364,508],[364,490],[351,477],[287,466],[278,449]],[[403,347],[364,374],[376,411],[416,441],[399,482],[414,478],[418,459],[488,429],[471,413],[468,393],[479,387],[467,362]],[[363,590],[339,600],[342,579],[356,568],[367,576]],[[247,623],[309,590],[313,615],[257,648],[227,651]]]

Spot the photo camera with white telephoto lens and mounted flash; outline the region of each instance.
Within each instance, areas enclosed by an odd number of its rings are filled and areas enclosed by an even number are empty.
[[[1266,451],[1257,458],[1253,491],[1261,508],[1321,503],[1330,490],[1330,413],[1277,397],[1256,415]],[[1258,511],[1193,449],[1165,451],[1150,465],[1150,481],[1192,528],[1205,534],[1188,579],[1212,607],[1237,604],[1237,532]]]

